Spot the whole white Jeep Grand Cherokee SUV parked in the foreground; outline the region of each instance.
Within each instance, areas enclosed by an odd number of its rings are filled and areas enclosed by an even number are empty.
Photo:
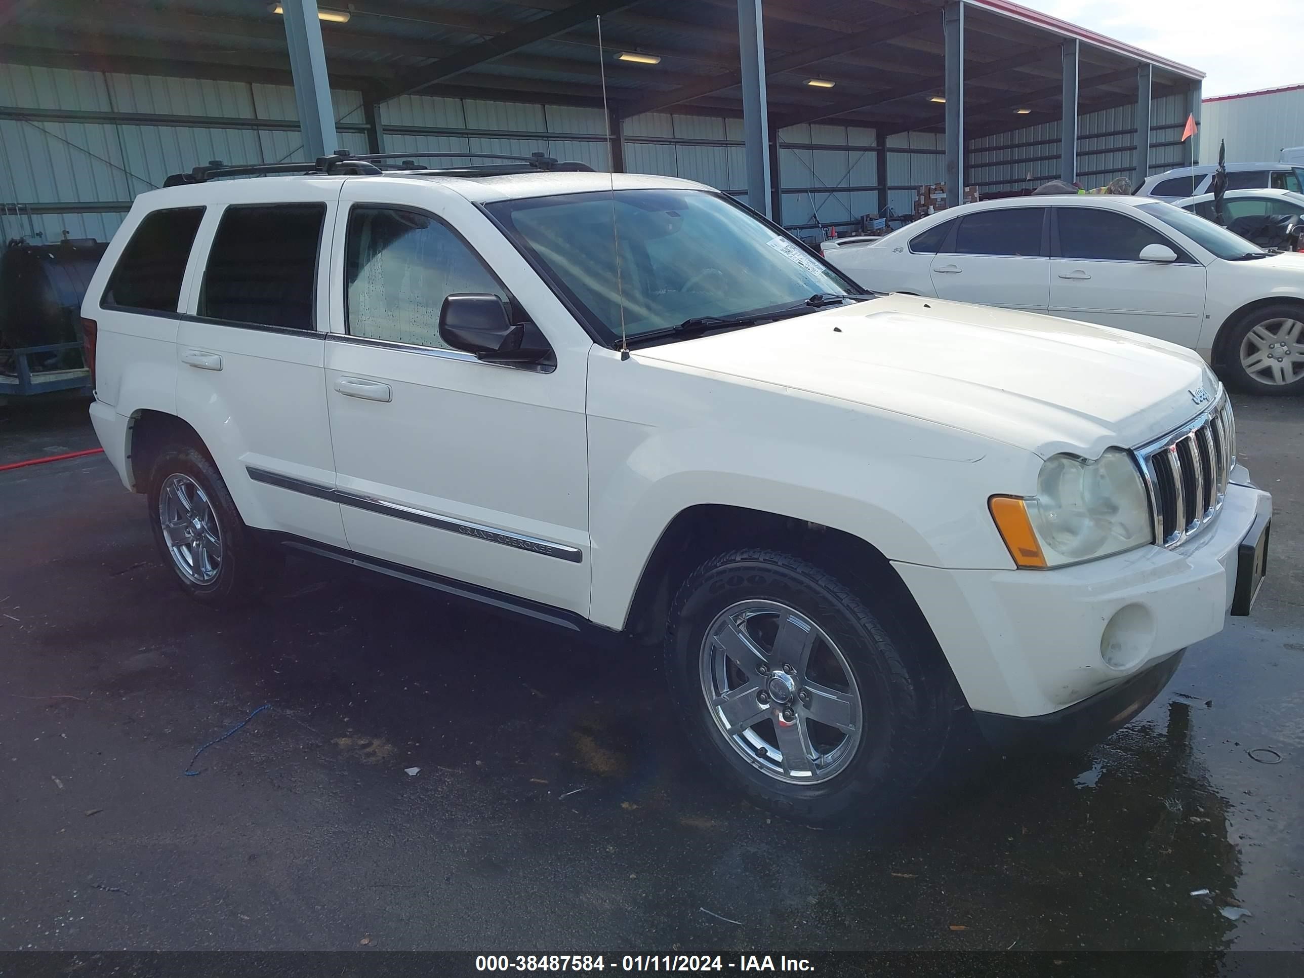
[[[1271,499],[1194,353],[866,295],[699,184],[505,170],[136,200],[91,416],[197,600],[288,545],[662,645],[707,763],[822,824],[970,711],[1101,737],[1249,612]]]

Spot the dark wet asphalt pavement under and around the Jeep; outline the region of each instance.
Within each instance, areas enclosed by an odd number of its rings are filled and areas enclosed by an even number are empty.
[[[645,652],[300,561],[209,612],[103,456],[0,472],[0,949],[1304,951],[1304,404],[1235,403],[1253,617],[872,833],[705,776]],[[0,464],[94,445],[0,413]]]

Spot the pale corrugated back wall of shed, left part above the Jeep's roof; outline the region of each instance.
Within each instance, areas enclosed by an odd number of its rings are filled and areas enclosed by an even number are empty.
[[[340,143],[366,153],[361,94],[333,96]],[[542,151],[609,166],[592,108],[404,96],[379,116],[386,151]],[[136,194],[168,173],[303,158],[289,86],[0,64],[0,241],[65,231],[107,241]]]

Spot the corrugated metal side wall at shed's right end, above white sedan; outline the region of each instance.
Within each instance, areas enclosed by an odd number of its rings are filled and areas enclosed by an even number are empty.
[[[1208,107],[1206,107],[1208,111]],[[1150,172],[1184,163],[1184,95],[1150,103]],[[1078,183],[1091,189],[1136,172],[1136,106],[1082,115],[1077,121]],[[1208,123],[1206,123],[1208,126]],[[1205,129],[1208,146],[1208,128]],[[969,141],[969,183],[979,193],[1031,189],[1060,175],[1060,124],[1043,123]]]

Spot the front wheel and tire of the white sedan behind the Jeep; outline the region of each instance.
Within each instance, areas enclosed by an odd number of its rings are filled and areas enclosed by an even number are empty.
[[[1304,394],[1304,306],[1260,306],[1231,326],[1223,344],[1224,379],[1243,394]]]

